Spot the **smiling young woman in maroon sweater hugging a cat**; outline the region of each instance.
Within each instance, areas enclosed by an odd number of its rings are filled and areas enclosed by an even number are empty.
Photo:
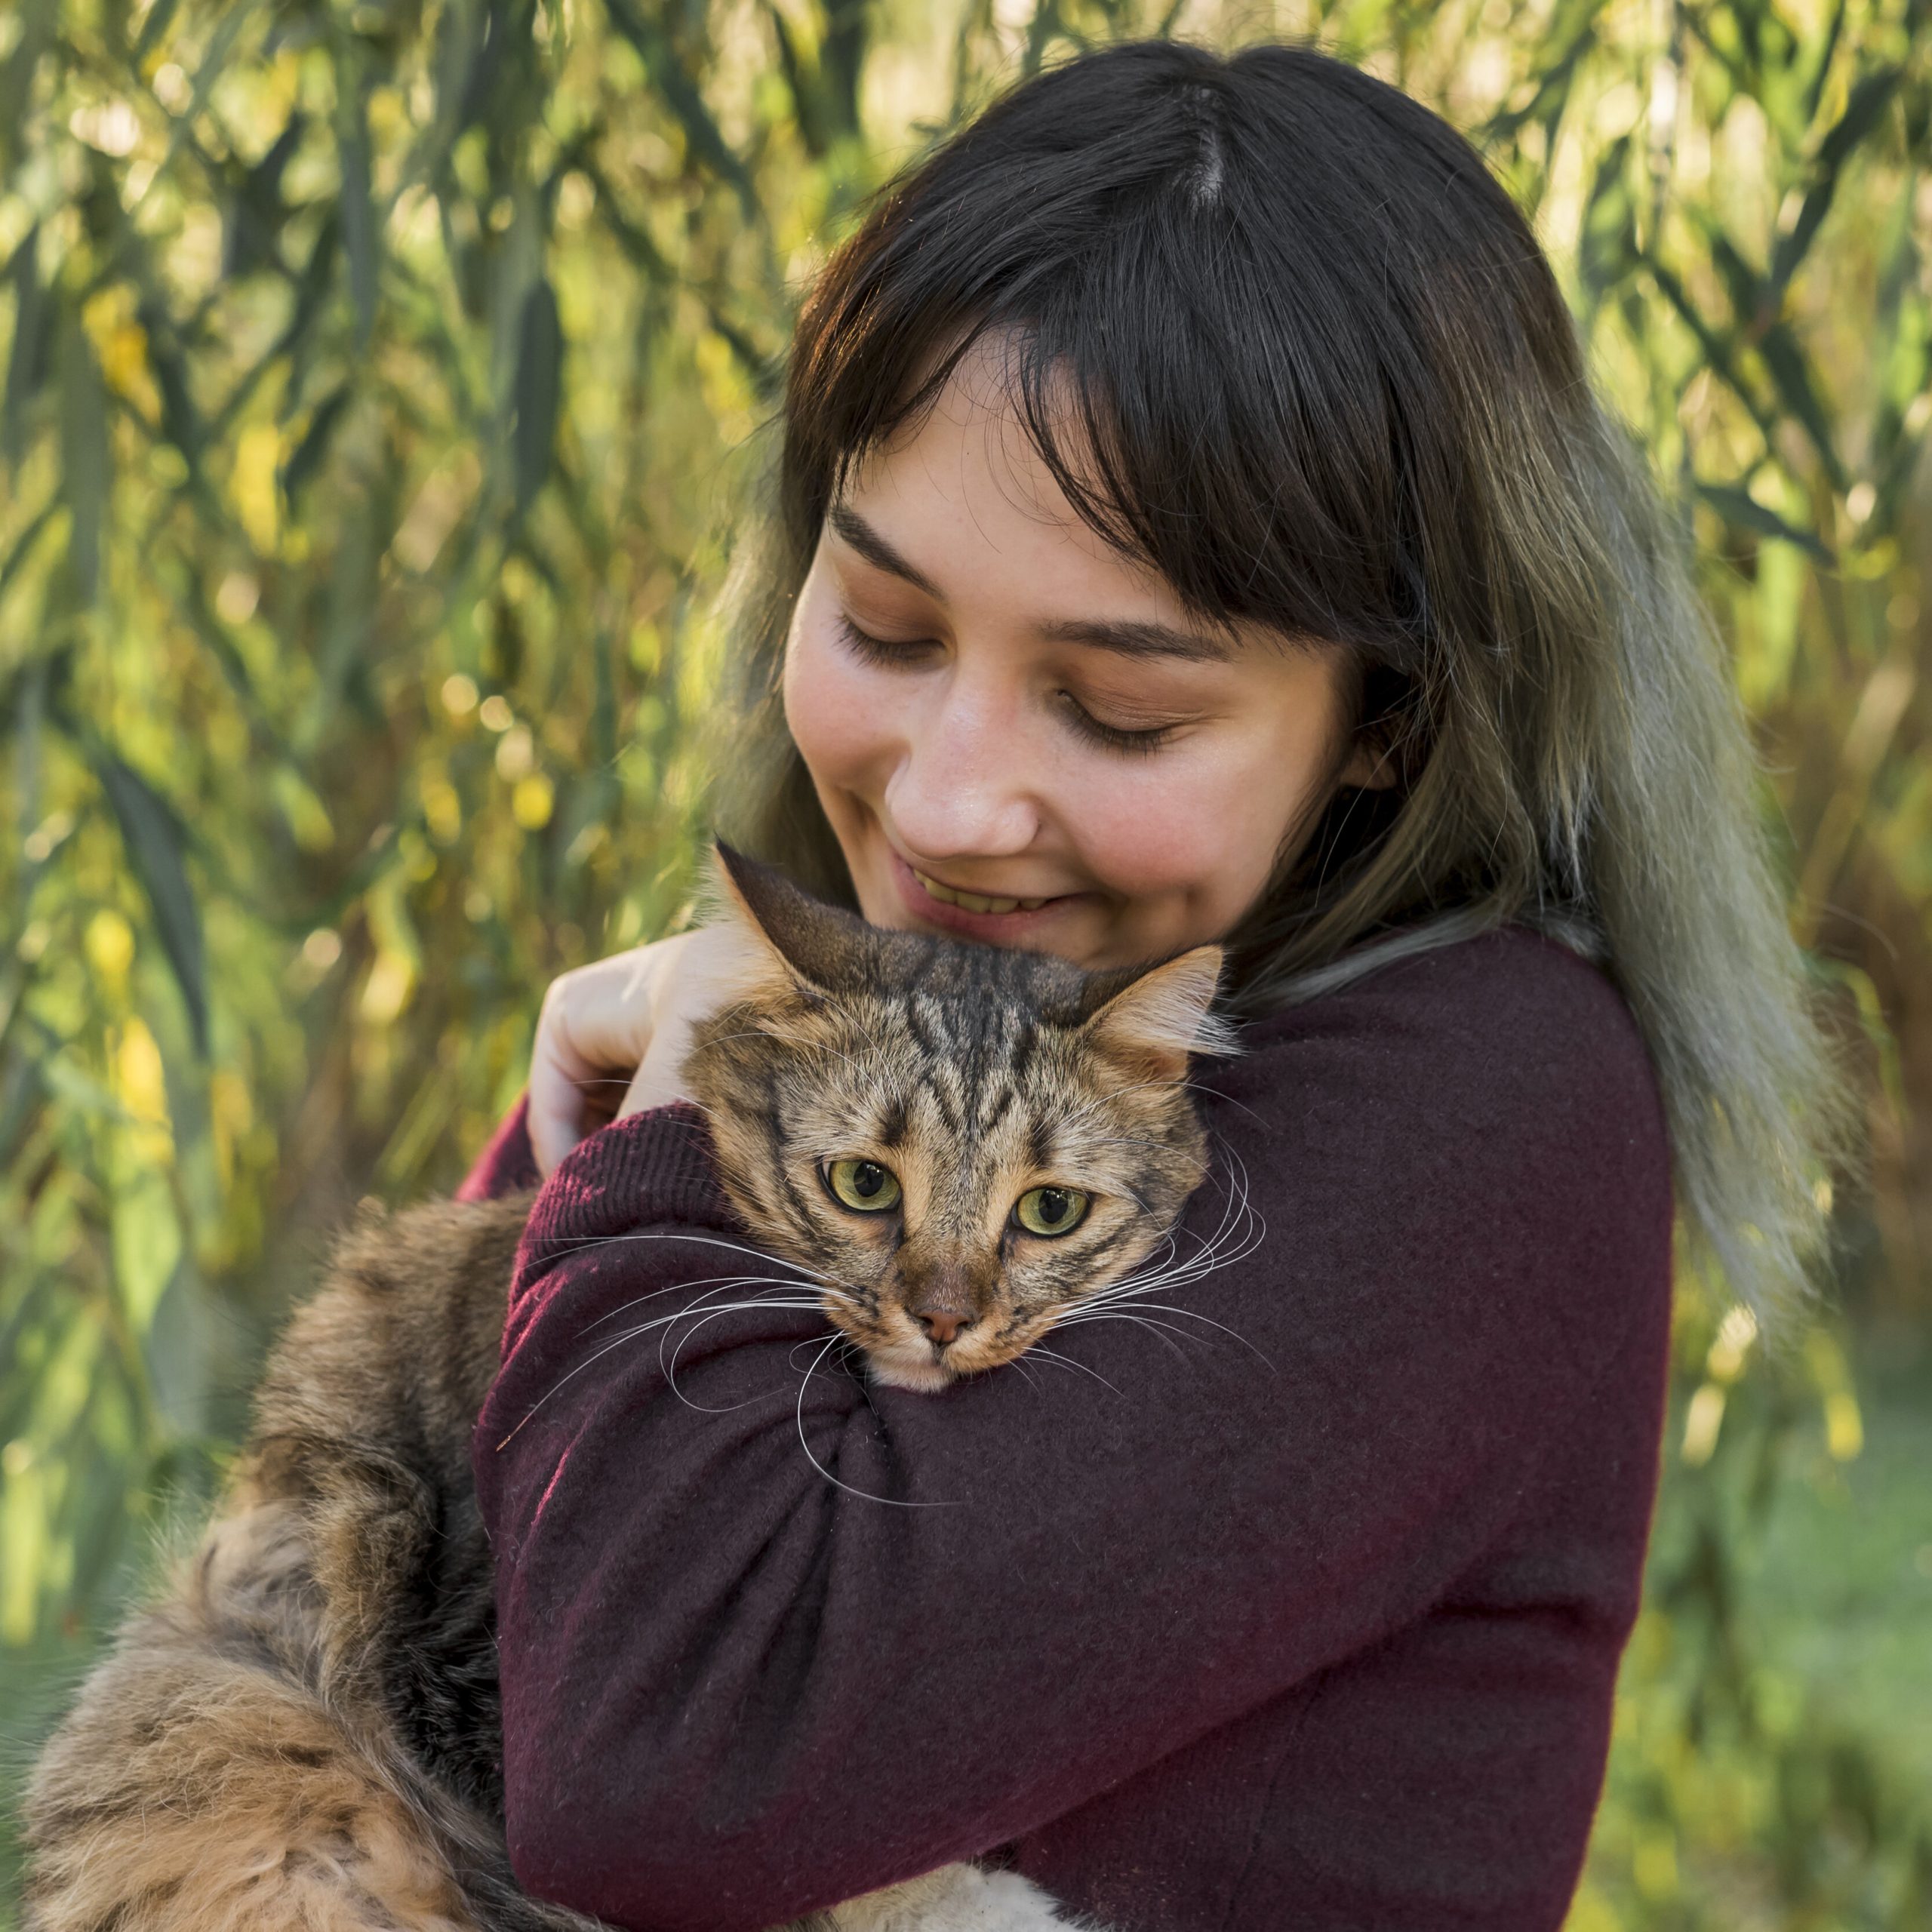
[[[1262,1236],[1180,1300],[1246,1347],[1101,1321],[1059,1339],[1094,1374],[798,1397],[819,1323],[765,1310],[676,1387],[572,1374],[732,1223],[670,1105],[705,933],[558,980],[468,1182],[549,1175],[475,1449],[520,1876],[665,1932],[962,1857],[1117,1932],[1557,1926],[1673,1177],[1770,1308],[1832,1090],[1721,661],[1544,257],[1347,66],[1121,46],[877,199],[782,433],[728,829],[881,925],[1223,939],[1190,1227],[1244,1175]]]

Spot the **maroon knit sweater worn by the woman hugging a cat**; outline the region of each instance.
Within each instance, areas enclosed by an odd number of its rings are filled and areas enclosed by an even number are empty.
[[[618,1343],[757,1271],[692,1109],[551,1175],[473,1445],[531,1891],[752,1932],[991,1855],[1117,1932],[1561,1922],[1662,1430],[1638,1032],[1503,933],[1202,1086],[1184,1227],[1242,1175],[1260,1244],[943,1395],[811,1310]],[[518,1109],[466,1190],[533,1179]]]

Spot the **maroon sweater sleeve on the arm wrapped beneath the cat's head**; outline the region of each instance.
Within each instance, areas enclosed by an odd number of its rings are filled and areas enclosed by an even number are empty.
[[[1173,1279],[941,1395],[848,1372],[692,1109],[551,1175],[475,1435],[512,1861],[753,1932],[1063,1816],[1424,1615],[1669,1289],[1658,1099],[1505,935],[1208,1072]]]

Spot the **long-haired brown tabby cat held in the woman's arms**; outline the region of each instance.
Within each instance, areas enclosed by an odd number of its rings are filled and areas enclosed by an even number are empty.
[[[877,931],[734,854],[721,877],[740,970],[686,1086],[752,1238],[837,1283],[825,1314],[877,1379],[1012,1360],[1148,1260],[1204,1171],[1213,949],[1082,974]],[[469,1474],[529,1202],[342,1236],[216,1520],[41,1758],[27,1932],[589,1932],[510,1872]],[[811,1924],[1066,1920],[954,1864]]]

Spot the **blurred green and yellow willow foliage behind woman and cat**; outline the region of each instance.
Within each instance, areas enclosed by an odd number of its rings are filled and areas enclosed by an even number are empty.
[[[454,1184],[549,978],[684,904],[711,593],[858,199],[1072,48],[1314,35],[1534,213],[1696,543],[1870,1122],[1806,1335],[1685,1283],[1571,1932],[1932,1924],[1928,15],[0,10],[0,1787],[327,1231]]]

